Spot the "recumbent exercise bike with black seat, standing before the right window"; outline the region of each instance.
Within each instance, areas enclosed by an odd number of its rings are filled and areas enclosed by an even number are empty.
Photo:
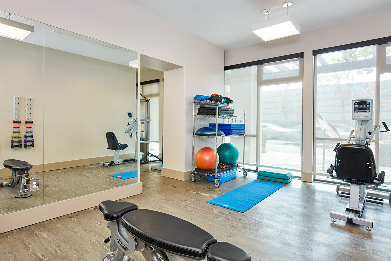
[[[364,203],[368,201],[383,204],[383,199],[390,200],[389,195],[384,196],[365,191],[366,185],[378,187],[383,184],[385,175],[384,171],[376,172],[375,158],[372,150],[368,147],[379,128],[379,126],[374,126],[374,129],[368,132],[370,136],[366,135],[366,125],[373,116],[372,105],[372,99],[352,100],[352,119],[358,121],[355,136],[353,136],[354,131],[352,130],[346,143],[341,145],[337,143],[334,149],[335,163],[334,165],[331,164],[327,170],[331,178],[350,183],[350,191],[339,194],[342,197],[349,198],[345,214],[330,212],[332,221],[335,222],[335,219],[340,219],[348,223],[366,226],[368,231],[373,227],[373,221],[362,218]],[[385,122],[383,122],[383,125],[385,131],[389,131]],[[352,138],[355,139],[355,143],[350,143]],[[333,174],[334,171],[336,176]],[[339,185],[337,186],[337,193],[339,193]]]

